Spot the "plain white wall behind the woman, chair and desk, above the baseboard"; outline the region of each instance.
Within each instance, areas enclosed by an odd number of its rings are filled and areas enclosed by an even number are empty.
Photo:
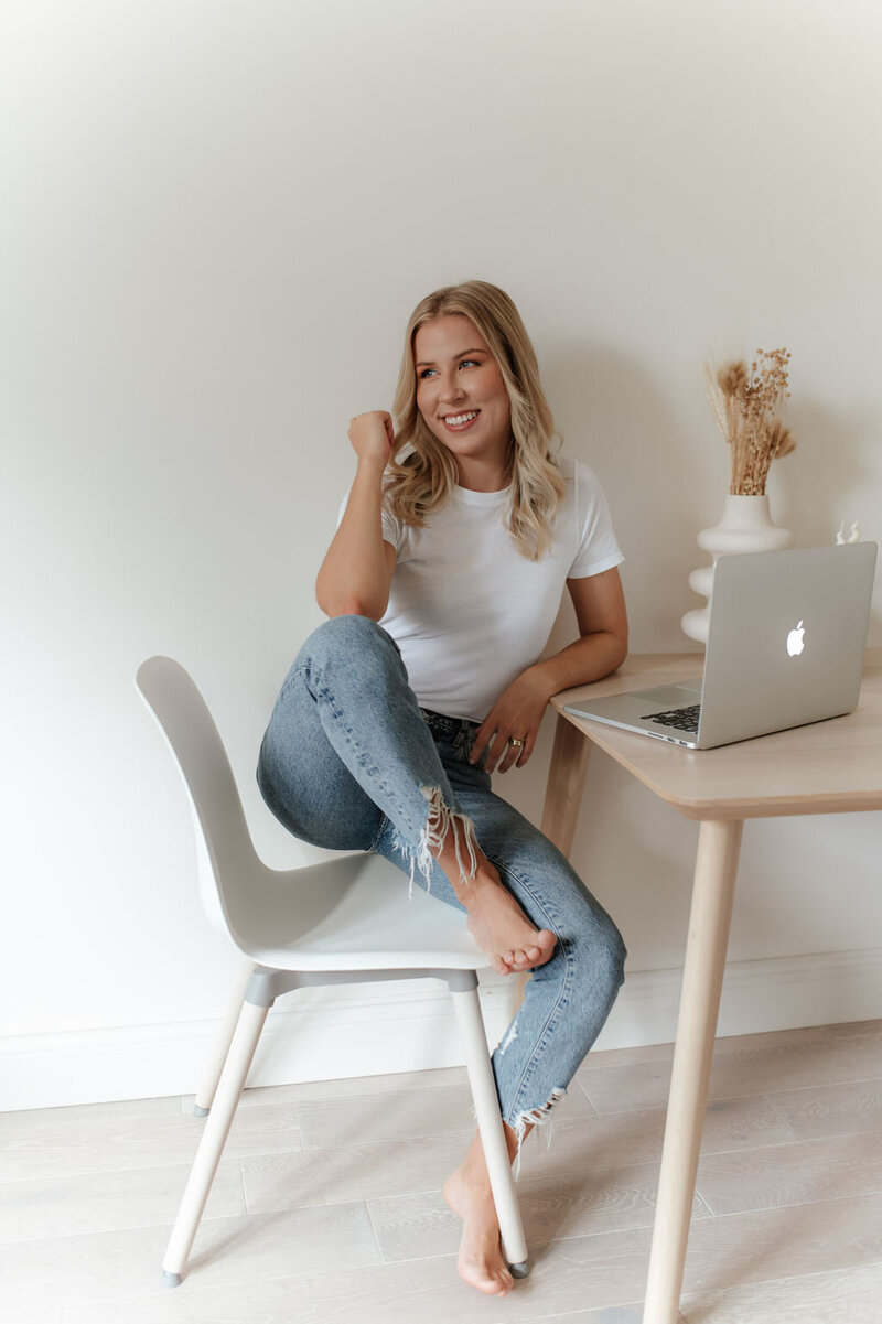
[[[607,486],[636,651],[693,646],[695,534],[727,489],[711,352],[792,351],[799,449],[769,490],[796,543],[853,516],[882,536],[882,16],[11,0],[0,49],[0,1046],[24,1107],[189,1088],[234,967],[134,694],[144,657],[203,686],[265,858],[310,858],[256,751],[319,621],[348,418],[388,406],[428,290],[478,275],[520,306],[567,449]],[[546,732],[502,780],[531,816],[547,756]],[[882,1016],[881,834],[748,826],[724,1033]],[[607,1045],[673,1035],[694,842],[595,759],[573,859],[630,949]],[[262,1079],[428,1064],[425,1022],[404,1062],[384,1030],[409,1014],[351,994],[318,1013],[334,1063],[279,1049]]]

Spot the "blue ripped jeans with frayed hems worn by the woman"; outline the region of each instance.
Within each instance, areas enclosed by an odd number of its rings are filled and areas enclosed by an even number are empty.
[[[326,621],[301,649],[275,702],[257,780],[275,817],[331,850],[384,855],[464,907],[429,853],[437,828],[474,825],[481,850],[536,928],[558,944],[527,981],[493,1054],[503,1120],[518,1140],[567,1091],[622,984],[618,929],[567,859],[469,763],[478,723],[420,708],[397,645],[373,621]],[[436,792],[440,790],[440,798]],[[446,817],[445,817],[446,816]],[[467,841],[462,863],[467,876]],[[401,891],[401,904],[407,894]]]

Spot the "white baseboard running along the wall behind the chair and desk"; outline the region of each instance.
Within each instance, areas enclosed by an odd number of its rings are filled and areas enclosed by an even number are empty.
[[[682,970],[629,973],[597,1049],[669,1043]],[[482,977],[487,1037],[514,989]],[[718,1034],[756,1034],[882,1017],[882,949],[726,967]],[[220,1019],[121,1026],[0,1041],[0,1111],[192,1094]],[[433,980],[305,989],[270,1012],[249,1084],[383,1075],[462,1062],[453,1008]]]

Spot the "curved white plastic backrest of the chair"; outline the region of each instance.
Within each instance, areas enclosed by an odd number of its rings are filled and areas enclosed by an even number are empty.
[[[238,945],[234,898],[264,865],[254,851],[224,743],[196,685],[172,658],[148,658],[135,685],[184,779],[199,858],[201,902],[209,920]]]

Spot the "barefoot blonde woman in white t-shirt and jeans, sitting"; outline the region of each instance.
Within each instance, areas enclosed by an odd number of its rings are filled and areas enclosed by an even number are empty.
[[[393,414],[350,425],[358,457],[318,576],[328,616],[282,687],[258,781],[315,845],[376,850],[467,912],[502,974],[532,970],[493,1066],[514,1157],[599,1034],[625,949],[563,855],[490,789],[523,768],[552,694],[625,658],[628,625],[604,495],[558,462],[520,316],[467,281],[408,326]],[[567,584],[579,639],[539,662]],[[445,1184],[458,1268],[511,1275],[481,1140]]]

